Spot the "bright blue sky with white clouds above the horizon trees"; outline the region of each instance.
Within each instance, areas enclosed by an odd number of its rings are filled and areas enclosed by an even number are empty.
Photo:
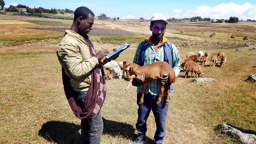
[[[229,19],[231,16],[239,20],[256,20],[256,0],[4,0],[5,6],[23,4],[29,7],[43,7],[76,10],[86,6],[95,14],[105,13],[107,17],[120,19],[150,19],[155,13],[162,13],[169,18],[201,18]]]

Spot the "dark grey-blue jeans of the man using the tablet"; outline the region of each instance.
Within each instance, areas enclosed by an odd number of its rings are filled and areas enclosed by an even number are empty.
[[[87,92],[76,92],[77,102],[81,108],[84,108],[84,99]],[[101,112],[93,117],[81,119],[81,141],[82,144],[100,144],[101,134],[103,132],[103,121]]]

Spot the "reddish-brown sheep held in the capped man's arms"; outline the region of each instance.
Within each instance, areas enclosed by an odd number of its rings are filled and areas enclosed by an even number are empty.
[[[159,104],[162,100],[164,89],[165,89],[165,102],[164,104],[168,104],[169,102],[169,91],[170,87],[169,84],[175,83],[177,80],[177,76],[175,76],[175,72],[172,67],[165,61],[157,61],[149,65],[139,66],[135,63],[130,63],[127,67],[129,74],[131,75],[131,79],[129,81],[128,86],[125,88],[125,91],[129,90],[132,86],[132,80],[134,78],[138,78],[140,76],[145,77],[145,81],[143,83],[143,88],[141,90],[141,98],[139,101],[139,105],[143,103],[144,93],[148,87],[148,83],[156,80],[159,77],[163,77],[164,74],[168,73],[168,82],[164,85],[159,84],[159,96],[157,99],[156,104]]]

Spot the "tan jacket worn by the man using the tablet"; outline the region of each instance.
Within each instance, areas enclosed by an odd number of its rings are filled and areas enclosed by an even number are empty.
[[[91,71],[99,64],[96,57],[90,55],[89,46],[84,37],[72,30],[66,30],[57,49],[57,56],[65,73],[70,77],[71,86],[77,90],[88,89],[91,83]],[[107,63],[104,58],[102,64]]]

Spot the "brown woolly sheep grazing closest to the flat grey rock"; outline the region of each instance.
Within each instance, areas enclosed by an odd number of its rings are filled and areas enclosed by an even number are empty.
[[[200,65],[198,63],[195,63],[194,61],[188,61],[185,66],[184,66],[184,72],[185,72],[185,78],[187,78],[188,76],[188,72],[191,72],[191,77],[193,72],[196,74],[196,78],[203,75],[203,70],[200,67]]]

